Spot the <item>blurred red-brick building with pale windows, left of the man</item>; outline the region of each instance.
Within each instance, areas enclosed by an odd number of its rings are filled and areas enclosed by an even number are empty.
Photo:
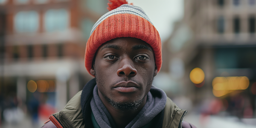
[[[0,0],[0,98],[26,105],[39,93],[45,103],[64,108],[92,78],[84,67],[85,46],[107,3]]]

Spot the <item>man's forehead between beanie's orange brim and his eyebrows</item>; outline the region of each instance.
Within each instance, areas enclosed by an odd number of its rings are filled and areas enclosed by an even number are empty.
[[[151,46],[147,44],[145,41],[142,41],[137,38],[115,38],[112,39],[111,41],[107,41],[106,43],[102,44],[101,47],[99,47],[99,51],[102,51],[103,49],[127,49],[130,48],[132,50],[137,50],[137,49],[148,49],[149,51],[153,51]]]

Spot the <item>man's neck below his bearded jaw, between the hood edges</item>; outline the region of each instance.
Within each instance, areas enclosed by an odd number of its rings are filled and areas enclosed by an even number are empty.
[[[134,118],[137,116],[137,114],[141,111],[141,109],[144,107],[147,96],[143,98],[142,104],[136,109],[136,110],[121,110],[114,108],[102,94],[98,90],[99,97],[105,107],[108,109],[108,112],[111,114],[112,118],[114,119],[117,128],[125,128],[126,125],[128,125]]]

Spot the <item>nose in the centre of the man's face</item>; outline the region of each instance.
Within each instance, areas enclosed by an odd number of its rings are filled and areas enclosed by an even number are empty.
[[[134,67],[134,63],[131,59],[125,58],[120,62],[120,67],[117,70],[118,76],[136,76],[137,70]]]

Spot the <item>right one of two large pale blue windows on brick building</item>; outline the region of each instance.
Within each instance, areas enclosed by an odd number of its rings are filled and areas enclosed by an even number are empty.
[[[69,23],[68,12],[65,9],[50,9],[44,15],[44,27],[47,32],[63,31]]]

